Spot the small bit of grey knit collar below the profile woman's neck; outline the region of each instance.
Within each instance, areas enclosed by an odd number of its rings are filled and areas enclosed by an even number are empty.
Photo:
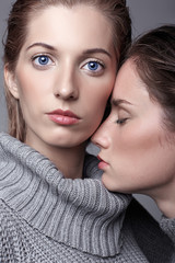
[[[168,219],[165,216],[162,217],[160,222],[162,230],[170,237],[175,247],[175,218]]]

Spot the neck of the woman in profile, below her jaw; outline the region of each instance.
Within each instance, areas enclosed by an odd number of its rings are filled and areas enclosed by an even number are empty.
[[[148,195],[155,201],[164,216],[175,218],[175,179],[173,182],[168,182],[168,184],[160,187],[156,192],[153,191],[153,193]]]

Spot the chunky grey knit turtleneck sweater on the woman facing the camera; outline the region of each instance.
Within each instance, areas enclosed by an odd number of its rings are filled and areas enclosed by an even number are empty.
[[[100,178],[93,157],[83,180],[65,179],[47,158],[1,133],[0,263],[151,262],[125,218],[130,196],[109,193]]]

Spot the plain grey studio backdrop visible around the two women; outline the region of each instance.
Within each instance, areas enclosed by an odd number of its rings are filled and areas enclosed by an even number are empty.
[[[25,0],[24,0],[25,1]],[[5,20],[8,18],[10,7],[14,1],[0,0],[0,39],[2,39],[5,31]],[[155,26],[160,26],[164,23],[175,24],[175,0],[128,0],[130,8],[130,14],[132,19],[132,35],[143,33]],[[0,57],[3,56],[3,46],[0,42]],[[3,98],[3,70],[2,61],[0,62],[0,132],[7,130],[7,110]],[[93,146],[90,147],[90,151],[95,152]],[[154,202],[145,196],[136,195],[136,197],[142,203],[151,214],[159,220],[161,213],[156,208]]]

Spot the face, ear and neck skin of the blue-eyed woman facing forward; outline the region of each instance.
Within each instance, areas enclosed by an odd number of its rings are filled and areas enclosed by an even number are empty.
[[[4,68],[26,122],[25,142],[66,178],[82,176],[86,140],[98,127],[114,87],[110,27],[94,8],[49,7],[30,21],[15,72]],[[54,115],[58,122],[51,119],[49,113],[58,108],[75,114],[75,123],[59,114]]]

